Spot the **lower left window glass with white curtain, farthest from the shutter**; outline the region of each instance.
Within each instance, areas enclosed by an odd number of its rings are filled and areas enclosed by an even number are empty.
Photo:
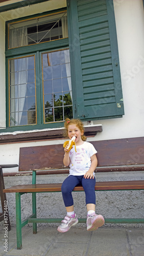
[[[10,126],[36,124],[35,58],[9,59]]]

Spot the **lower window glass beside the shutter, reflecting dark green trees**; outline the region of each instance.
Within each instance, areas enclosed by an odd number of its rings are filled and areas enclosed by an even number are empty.
[[[44,122],[73,118],[69,50],[42,54]]]

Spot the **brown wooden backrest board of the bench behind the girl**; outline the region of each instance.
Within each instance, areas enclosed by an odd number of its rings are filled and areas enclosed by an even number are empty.
[[[144,137],[92,141],[98,151],[98,166],[144,164]],[[67,169],[62,144],[21,147],[19,171]],[[63,171],[64,172],[64,171]]]

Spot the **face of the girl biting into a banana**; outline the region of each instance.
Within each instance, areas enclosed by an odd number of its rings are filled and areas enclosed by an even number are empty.
[[[73,138],[73,136],[76,136],[76,145],[83,143],[81,136],[83,135],[84,131],[81,132],[76,124],[69,124],[67,127],[67,133],[70,140]]]

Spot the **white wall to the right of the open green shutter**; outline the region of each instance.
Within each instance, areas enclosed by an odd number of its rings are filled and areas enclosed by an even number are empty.
[[[101,120],[97,140],[144,135],[144,13],[142,0],[114,0],[125,115]],[[100,121],[95,121],[98,124]]]

